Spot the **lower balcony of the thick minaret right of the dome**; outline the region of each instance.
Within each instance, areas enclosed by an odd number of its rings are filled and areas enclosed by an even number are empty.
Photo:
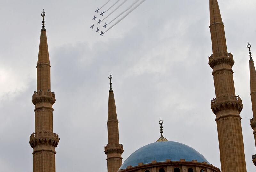
[[[234,107],[237,107],[237,110],[239,112],[241,112],[243,109],[242,99],[239,96],[224,95],[224,96],[217,97],[211,101],[211,108],[215,114],[220,109],[223,109],[223,108],[225,109],[229,105],[233,105]]]

